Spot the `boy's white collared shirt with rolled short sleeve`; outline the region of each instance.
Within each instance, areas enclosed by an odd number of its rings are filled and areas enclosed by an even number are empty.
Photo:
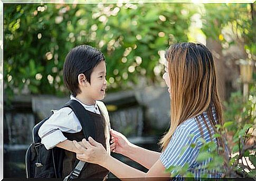
[[[100,114],[99,107],[96,103],[94,105],[86,105],[72,95],[70,99],[77,100],[86,110]],[[64,107],[52,111],[53,115],[43,123],[38,131],[41,137],[41,143],[44,144],[46,149],[50,149],[67,139],[62,132],[78,133],[82,130],[82,126],[71,108]]]

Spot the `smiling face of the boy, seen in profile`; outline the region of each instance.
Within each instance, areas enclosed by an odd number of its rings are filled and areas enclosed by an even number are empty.
[[[87,83],[87,86],[84,87],[83,95],[91,101],[103,99],[107,88],[106,73],[105,61],[101,61],[93,69],[91,73],[91,84]]]

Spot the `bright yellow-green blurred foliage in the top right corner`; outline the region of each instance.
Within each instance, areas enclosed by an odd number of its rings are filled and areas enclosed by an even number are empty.
[[[202,31],[207,37],[220,41],[223,48],[231,44],[243,45],[251,59],[256,54],[256,32],[253,31],[256,20],[252,18],[255,12],[255,3],[205,4],[201,9]]]

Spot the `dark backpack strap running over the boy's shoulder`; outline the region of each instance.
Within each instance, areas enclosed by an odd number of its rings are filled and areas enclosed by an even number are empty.
[[[77,100],[69,100],[69,102],[62,107],[70,107],[73,110],[82,126],[83,134],[86,139],[88,139],[89,136],[95,139],[96,133],[94,122],[86,109]]]

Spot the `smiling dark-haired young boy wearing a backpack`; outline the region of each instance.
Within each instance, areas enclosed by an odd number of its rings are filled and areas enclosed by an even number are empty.
[[[107,88],[104,55],[88,45],[73,48],[65,58],[63,79],[71,92],[70,99],[77,100],[86,109],[94,122],[97,141],[110,154],[109,116],[104,103],[98,101],[105,97]],[[82,126],[72,109],[64,107],[54,110],[53,115],[40,127],[39,136],[46,149],[57,146],[65,150],[62,177],[69,175],[74,169],[75,153],[78,152],[72,140],[81,142],[84,138]],[[108,173],[99,165],[88,164],[80,178],[105,178]]]

